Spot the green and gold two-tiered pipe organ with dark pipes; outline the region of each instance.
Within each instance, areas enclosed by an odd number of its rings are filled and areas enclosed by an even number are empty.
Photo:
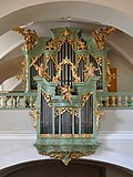
[[[40,38],[34,48],[23,49],[25,91],[38,93],[38,152],[69,164],[99,146],[96,91],[106,90],[108,52],[98,48],[92,35],[83,37],[80,29],[51,31],[53,38]]]

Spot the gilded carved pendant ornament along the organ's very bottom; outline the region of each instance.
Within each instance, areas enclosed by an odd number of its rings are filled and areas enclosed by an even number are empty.
[[[41,155],[48,155],[61,159],[64,165],[69,165],[72,159],[80,158],[93,154],[93,152],[50,152],[50,153],[40,153]]]

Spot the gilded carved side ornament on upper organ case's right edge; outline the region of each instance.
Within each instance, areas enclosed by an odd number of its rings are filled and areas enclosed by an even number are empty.
[[[115,73],[111,73],[111,62],[109,59],[106,59],[106,86],[111,86],[112,80],[116,77]]]

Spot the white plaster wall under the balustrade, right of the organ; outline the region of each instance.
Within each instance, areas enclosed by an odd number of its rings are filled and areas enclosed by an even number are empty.
[[[133,110],[103,110],[100,133],[133,133]]]

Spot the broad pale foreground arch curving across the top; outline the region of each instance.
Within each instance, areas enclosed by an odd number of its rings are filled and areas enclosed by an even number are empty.
[[[124,8],[121,9],[121,6],[124,7],[123,0],[121,1],[120,7],[117,3],[114,6],[114,3],[106,3],[104,0],[101,4],[100,2],[98,3],[98,0],[47,0],[45,2],[40,0],[38,1],[38,4],[34,0],[31,0],[30,2],[24,0],[23,3],[19,3],[17,0],[13,1],[14,3],[12,2],[11,7],[8,6],[7,0],[2,2],[2,11],[0,11],[0,23],[2,28],[0,29],[0,34],[31,21],[55,21],[71,17],[75,21],[96,21],[102,24],[113,25],[130,35],[133,35],[133,15],[130,10],[125,11]],[[120,2],[120,0],[117,0],[117,2]]]

